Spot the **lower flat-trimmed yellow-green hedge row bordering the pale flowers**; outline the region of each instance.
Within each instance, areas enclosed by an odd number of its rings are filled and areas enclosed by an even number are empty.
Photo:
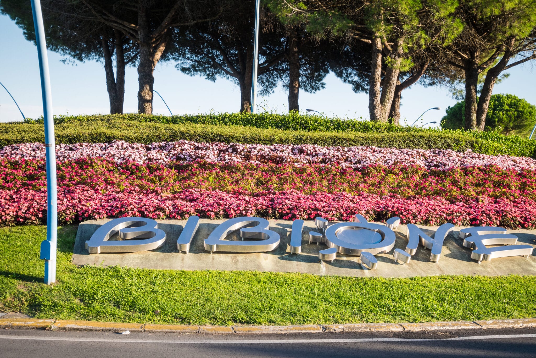
[[[461,131],[415,131],[363,133],[262,129],[241,126],[162,124],[111,119],[108,121],[64,122],[55,126],[56,143],[130,143],[191,140],[196,142],[319,144],[323,146],[373,145],[381,148],[472,149],[482,154],[534,157],[534,142],[489,140]],[[519,138],[521,140],[521,138]],[[25,142],[44,142],[44,129],[33,123],[0,123],[0,146]]]

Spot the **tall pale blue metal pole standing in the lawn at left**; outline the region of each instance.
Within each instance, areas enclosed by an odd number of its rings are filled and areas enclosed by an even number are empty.
[[[56,145],[54,140],[54,117],[48,72],[47,44],[44,37],[43,14],[40,0],[30,0],[35,27],[35,42],[39,57],[41,94],[43,97],[44,147],[47,160],[47,239],[41,243],[41,259],[44,260],[44,282],[56,281],[56,246],[58,205],[56,190]]]

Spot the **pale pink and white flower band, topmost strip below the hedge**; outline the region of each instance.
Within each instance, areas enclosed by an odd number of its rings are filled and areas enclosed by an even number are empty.
[[[0,150],[5,158],[44,158],[42,143],[7,145]],[[111,143],[77,143],[56,145],[59,161],[102,157],[116,163],[195,162],[216,163],[294,163],[332,164],[366,167],[374,164],[419,165],[427,169],[448,170],[455,167],[496,165],[503,169],[536,170],[536,160],[508,155],[490,156],[471,150],[456,152],[442,149],[396,149],[377,147],[321,147],[315,144],[238,144],[196,143],[191,141],[160,142],[150,145],[113,141]]]

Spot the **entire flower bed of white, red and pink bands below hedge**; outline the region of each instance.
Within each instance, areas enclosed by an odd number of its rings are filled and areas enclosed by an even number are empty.
[[[0,150],[0,224],[46,220],[42,144]],[[536,161],[450,150],[173,142],[58,145],[58,216],[536,224]],[[207,162],[208,161],[208,162]]]

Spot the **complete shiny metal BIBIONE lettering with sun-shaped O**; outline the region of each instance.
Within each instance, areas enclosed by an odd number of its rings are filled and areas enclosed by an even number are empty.
[[[396,239],[393,229],[400,223],[400,218],[392,217],[385,225],[369,223],[356,214],[353,222],[329,224],[317,217],[317,231],[309,232],[309,243],[324,243],[327,249],[320,250],[321,261],[333,260],[337,253],[357,255],[362,264],[370,269],[377,267],[374,255],[388,253],[394,247]],[[291,231],[291,252],[299,254],[302,246],[304,221],[295,220]],[[188,253],[192,239],[199,227],[199,217],[190,216],[177,238],[178,252]],[[209,237],[204,239],[204,249],[213,252],[267,252],[277,249],[281,238],[275,231],[269,230],[269,222],[260,217],[235,217],[220,224]],[[419,245],[431,251],[430,260],[437,262],[441,257],[443,241],[454,229],[454,225],[446,223],[435,232],[434,238],[428,236],[414,224],[406,225],[407,245],[405,251],[395,249],[393,257],[402,263],[410,262]],[[229,233],[240,230],[241,241],[226,240]],[[493,258],[518,256],[528,257],[532,254],[531,245],[517,244],[517,236],[507,234],[506,229],[497,227],[472,227],[461,229],[459,237],[463,246],[473,249],[471,258],[479,263]],[[109,240],[118,233],[121,240]],[[244,240],[245,239],[245,240]],[[143,217],[122,217],[111,220],[97,229],[86,250],[90,254],[101,252],[138,252],[154,250],[162,246],[166,233],[158,228],[155,220]],[[501,245],[501,246],[497,246]],[[493,247],[490,247],[493,246]]]

